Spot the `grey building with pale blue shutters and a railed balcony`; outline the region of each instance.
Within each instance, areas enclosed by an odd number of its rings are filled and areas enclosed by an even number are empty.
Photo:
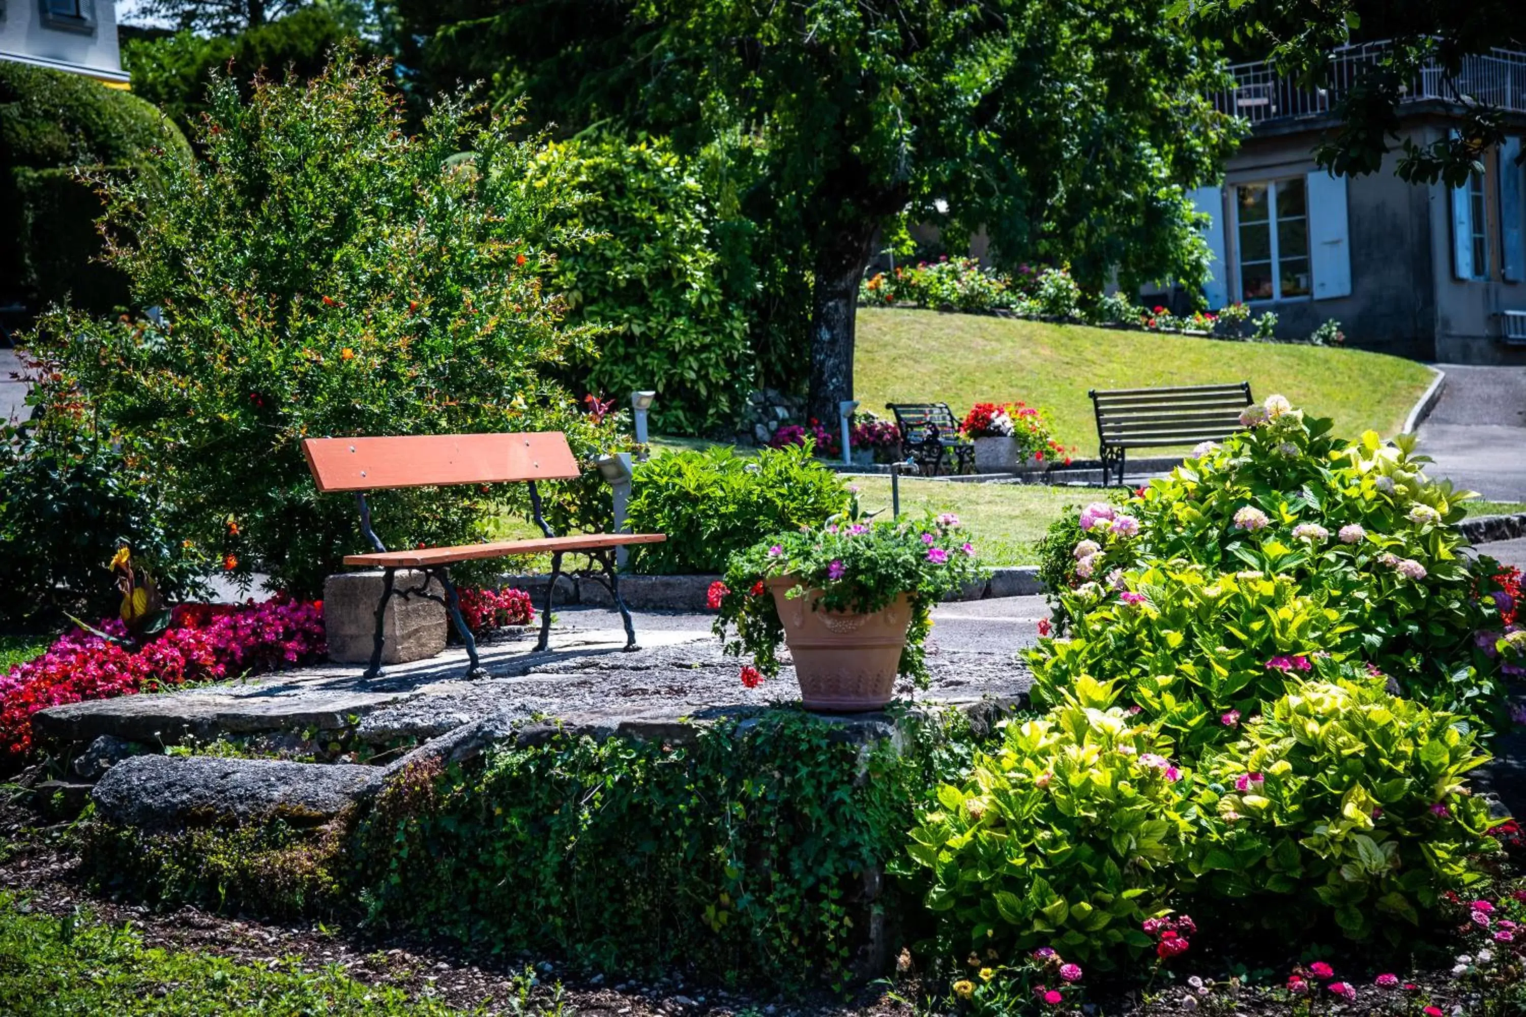
[[[1213,217],[1210,306],[1274,311],[1279,334],[1328,319],[1364,349],[1450,363],[1526,363],[1526,53],[1471,56],[1456,78],[1421,72],[1399,105],[1399,143],[1454,137],[1463,101],[1505,111],[1508,137],[1463,188],[1408,184],[1393,174],[1332,177],[1314,148],[1337,130],[1341,85],[1381,43],[1332,56],[1332,81],[1308,91],[1265,64],[1233,67],[1215,96],[1251,134],[1224,184],[1193,194]]]

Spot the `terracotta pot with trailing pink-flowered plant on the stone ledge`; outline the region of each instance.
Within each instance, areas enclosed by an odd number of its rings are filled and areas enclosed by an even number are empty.
[[[752,657],[743,685],[778,674],[784,642],[806,709],[874,711],[897,675],[926,688],[932,605],[974,575],[975,549],[954,515],[838,517],[732,555],[710,605],[726,653]]]

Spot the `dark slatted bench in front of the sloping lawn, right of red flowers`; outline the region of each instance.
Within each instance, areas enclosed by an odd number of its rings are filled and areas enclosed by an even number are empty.
[[[1169,389],[1093,389],[1097,413],[1097,445],[1102,486],[1109,473],[1123,483],[1128,448],[1164,448],[1224,441],[1244,425],[1241,412],[1250,406],[1250,381],[1238,384],[1189,384]]]

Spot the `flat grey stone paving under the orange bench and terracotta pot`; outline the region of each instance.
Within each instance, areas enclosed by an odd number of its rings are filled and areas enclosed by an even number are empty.
[[[101,735],[150,747],[220,735],[353,732],[375,747],[406,747],[490,717],[505,723],[557,718],[589,730],[664,736],[681,718],[720,717],[798,703],[786,666],[777,679],[746,689],[740,660],[722,654],[713,636],[688,630],[641,633],[642,648],[623,653],[620,630],[562,630],[546,653],[530,633],[481,648],[487,679],[465,680],[465,653],[385,668],[374,680],[359,665],[320,665],[179,692],[127,695],[43,711],[43,739],[85,746]],[[786,657],[787,662],[787,657]],[[897,697],[960,707],[1012,704],[1025,697],[1027,665],[1012,651],[961,651],[934,642],[932,688],[902,682]],[[113,768],[114,773],[114,768]]]

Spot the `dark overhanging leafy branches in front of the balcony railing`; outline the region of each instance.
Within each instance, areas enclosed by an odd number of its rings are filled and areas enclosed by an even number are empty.
[[[1399,177],[1460,186],[1483,151],[1503,139],[1500,111],[1456,84],[1470,55],[1526,49],[1526,3],[1520,0],[1175,0],[1172,11],[1206,34],[1233,38],[1308,87],[1331,84],[1329,52],[1351,43],[1389,40],[1366,64],[1340,105],[1341,130],[1320,145],[1322,166],[1370,174],[1399,151]],[[1398,107],[1405,87],[1437,64],[1465,107],[1456,139],[1416,145],[1399,139]]]

